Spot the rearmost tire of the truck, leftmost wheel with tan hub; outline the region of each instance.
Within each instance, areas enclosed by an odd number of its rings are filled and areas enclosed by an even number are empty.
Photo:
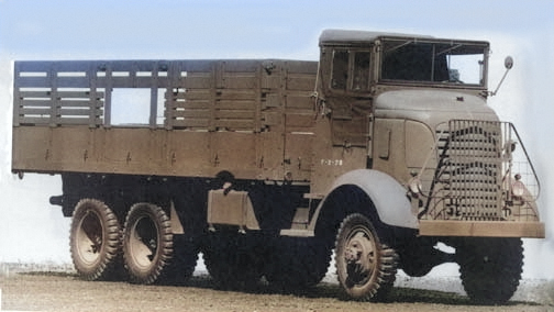
[[[106,280],[121,269],[121,226],[108,205],[82,199],[75,207],[69,250],[75,269],[86,280]]]

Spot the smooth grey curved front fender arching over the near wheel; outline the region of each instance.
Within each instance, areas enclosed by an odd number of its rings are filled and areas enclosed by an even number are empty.
[[[357,169],[339,177],[320,203],[320,210],[329,196],[342,186],[356,186],[373,201],[379,220],[388,225],[418,229],[417,212],[406,197],[406,188],[387,174],[372,169]],[[319,211],[318,211],[319,214]]]

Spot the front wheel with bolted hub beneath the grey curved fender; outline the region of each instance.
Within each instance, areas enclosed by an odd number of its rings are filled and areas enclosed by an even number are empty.
[[[336,235],[335,264],[339,282],[351,298],[383,301],[392,289],[398,256],[383,244],[372,222],[350,214]]]

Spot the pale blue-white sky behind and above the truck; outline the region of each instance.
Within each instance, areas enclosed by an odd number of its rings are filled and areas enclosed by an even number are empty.
[[[70,261],[69,220],[48,203],[60,193],[59,177],[10,174],[13,60],[315,60],[323,29],[351,29],[489,41],[490,89],[513,56],[489,104],[516,124],[541,179],[549,237],[525,239],[523,274],[554,278],[554,269],[541,270],[554,258],[553,12],[554,0],[0,0],[0,261]]]

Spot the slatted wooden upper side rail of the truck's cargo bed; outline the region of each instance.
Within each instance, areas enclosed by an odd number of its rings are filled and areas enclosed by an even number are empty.
[[[315,71],[315,62],[277,59],[16,62],[13,125],[112,126],[113,90],[147,89],[143,126],[259,132],[282,123],[279,108],[313,108]]]

